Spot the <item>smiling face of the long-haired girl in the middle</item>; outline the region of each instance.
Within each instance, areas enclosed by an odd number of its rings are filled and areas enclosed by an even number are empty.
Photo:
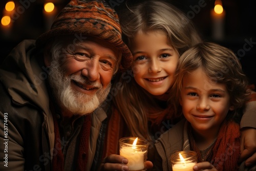
[[[132,42],[136,82],[153,95],[163,95],[174,83],[179,55],[163,32],[138,32]]]

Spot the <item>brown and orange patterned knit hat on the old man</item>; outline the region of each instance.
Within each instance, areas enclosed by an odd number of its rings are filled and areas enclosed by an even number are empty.
[[[55,18],[51,29],[40,35],[36,46],[42,46],[52,37],[83,34],[110,42],[122,52],[121,70],[132,64],[132,54],[121,38],[118,15],[106,2],[100,0],[71,0]]]

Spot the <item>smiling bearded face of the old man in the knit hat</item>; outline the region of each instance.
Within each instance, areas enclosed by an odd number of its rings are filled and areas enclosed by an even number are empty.
[[[118,52],[107,42],[96,38],[77,41],[65,37],[60,55],[50,63],[49,81],[56,99],[73,114],[93,112],[110,91]],[[64,38],[63,38],[64,39]]]

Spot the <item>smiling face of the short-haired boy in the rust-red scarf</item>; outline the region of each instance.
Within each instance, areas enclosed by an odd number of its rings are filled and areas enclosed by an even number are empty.
[[[200,135],[217,136],[228,111],[233,110],[226,85],[210,80],[201,68],[184,76],[180,104],[185,118]]]

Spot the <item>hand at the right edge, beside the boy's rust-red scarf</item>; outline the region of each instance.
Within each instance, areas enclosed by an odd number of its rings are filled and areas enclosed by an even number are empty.
[[[256,164],[256,129],[247,127],[241,131],[241,156],[239,162],[245,160],[246,166]]]

